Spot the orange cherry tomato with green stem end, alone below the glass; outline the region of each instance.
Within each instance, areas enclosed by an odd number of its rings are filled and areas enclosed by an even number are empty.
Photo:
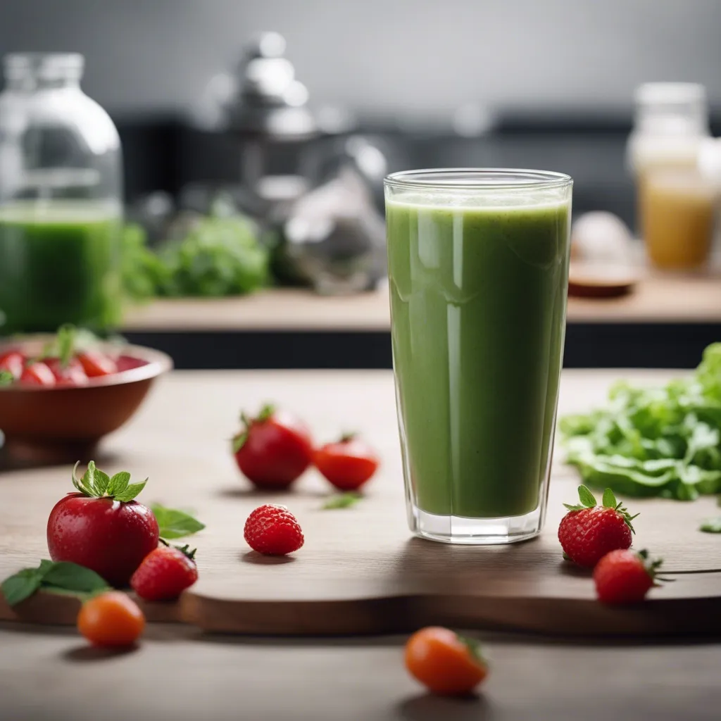
[[[440,627],[420,629],[408,639],[405,664],[429,691],[444,696],[470,694],[488,675],[477,642]]]

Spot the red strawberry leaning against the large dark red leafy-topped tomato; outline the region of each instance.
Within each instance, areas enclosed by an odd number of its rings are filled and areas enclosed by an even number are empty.
[[[131,586],[146,601],[172,601],[198,580],[195,550],[159,546],[133,573]]]

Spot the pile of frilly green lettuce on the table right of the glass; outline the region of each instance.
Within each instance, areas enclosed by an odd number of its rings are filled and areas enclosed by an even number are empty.
[[[559,430],[588,486],[678,500],[721,493],[721,343],[704,350],[689,379],[619,382],[608,407],[562,418]]]

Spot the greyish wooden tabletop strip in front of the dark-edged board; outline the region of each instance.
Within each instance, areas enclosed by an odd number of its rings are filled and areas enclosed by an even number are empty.
[[[484,636],[478,699],[425,694],[403,637],[202,637],[154,627],[137,650],[0,624],[6,721],[688,721],[718,718],[721,643],[565,645]]]

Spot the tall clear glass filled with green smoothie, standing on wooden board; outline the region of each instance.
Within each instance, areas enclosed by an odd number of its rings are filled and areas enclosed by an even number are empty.
[[[505,544],[541,531],[565,335],[572,180],[435,169],[385,180],[408,521]]]

